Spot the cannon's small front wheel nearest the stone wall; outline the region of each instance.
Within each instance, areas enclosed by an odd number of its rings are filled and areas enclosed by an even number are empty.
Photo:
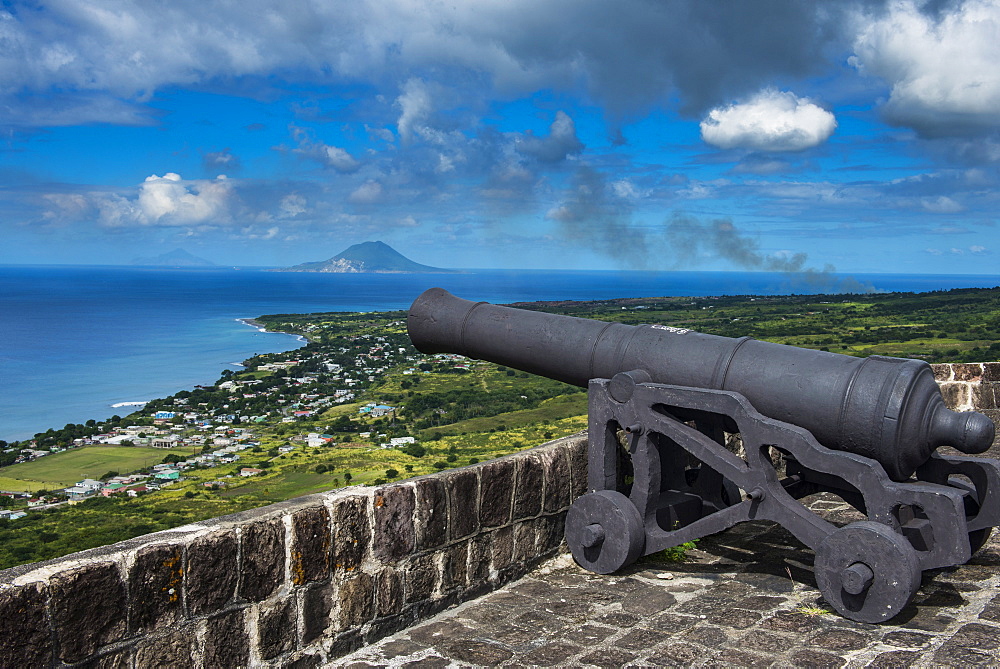
[[[646,530],[639,510],[615,490],[580,497],[566,514],[566,543],[584,569],[610,574],[642,555]]]

